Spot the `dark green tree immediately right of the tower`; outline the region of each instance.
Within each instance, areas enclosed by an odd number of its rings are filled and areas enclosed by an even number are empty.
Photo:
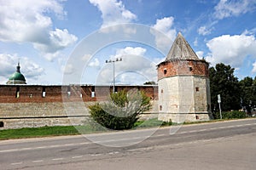
[[[234,68],[223,63],[209,69],[210,88],[213,112],[218,111],[217,96],[221,96],[223,111],[238,110],[240,106],[241,89]]]

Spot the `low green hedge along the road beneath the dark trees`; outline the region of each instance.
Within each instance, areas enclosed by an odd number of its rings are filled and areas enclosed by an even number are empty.
[[[213,114],[215,119],[220,119],[219,112]],[[244,111],[223,111],[223,119],[241,119],[247,117],[247,113]]]

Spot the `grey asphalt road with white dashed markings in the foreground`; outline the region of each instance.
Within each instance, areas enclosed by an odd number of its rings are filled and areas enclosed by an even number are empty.
[[[0,169],[256,169],[256,119],[5,140]]]

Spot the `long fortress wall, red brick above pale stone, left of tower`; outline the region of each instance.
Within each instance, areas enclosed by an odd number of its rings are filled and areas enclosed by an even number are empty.
[[[116,86],[117,91],[138,89],[157,107],[157,86]],[[0,128],[80,125],[88,120],[88,106],[108,99],[109,86],[0,85]],[[150,116],[149,111],[145,116]]]

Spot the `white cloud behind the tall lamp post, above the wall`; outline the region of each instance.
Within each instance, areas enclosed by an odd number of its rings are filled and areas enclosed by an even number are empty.
[[[143,84],[147,81],[156,81],[157,72],[154,61],[144,55],[145,48],[120,48],[111,59],[122,58],[115,62],[115,76],[117,84]],[[106,64],[97,77],[96,84],[109,84],[113,82],[113,64]]]

